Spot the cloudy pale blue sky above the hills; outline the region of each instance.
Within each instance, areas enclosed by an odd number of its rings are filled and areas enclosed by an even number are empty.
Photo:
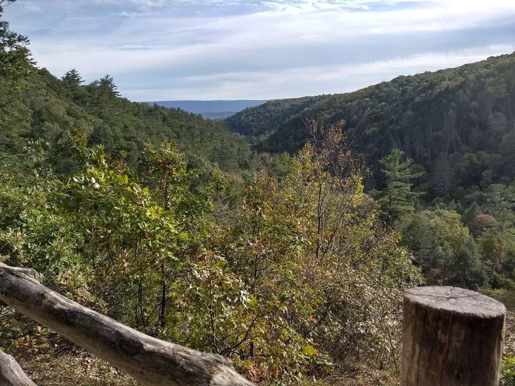
[[[133,101],[354,91],[515,51],[515,0],[18,0],[33,58]]]

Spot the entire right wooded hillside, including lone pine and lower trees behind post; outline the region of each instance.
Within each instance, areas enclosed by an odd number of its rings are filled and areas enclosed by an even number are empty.
[[[227,126],[264,136],[260,152],[290,154],[313,141],[313,122],[340,127],[428,283],[499,287],[512,277],[515,54],[303,100],[247,109]]]

